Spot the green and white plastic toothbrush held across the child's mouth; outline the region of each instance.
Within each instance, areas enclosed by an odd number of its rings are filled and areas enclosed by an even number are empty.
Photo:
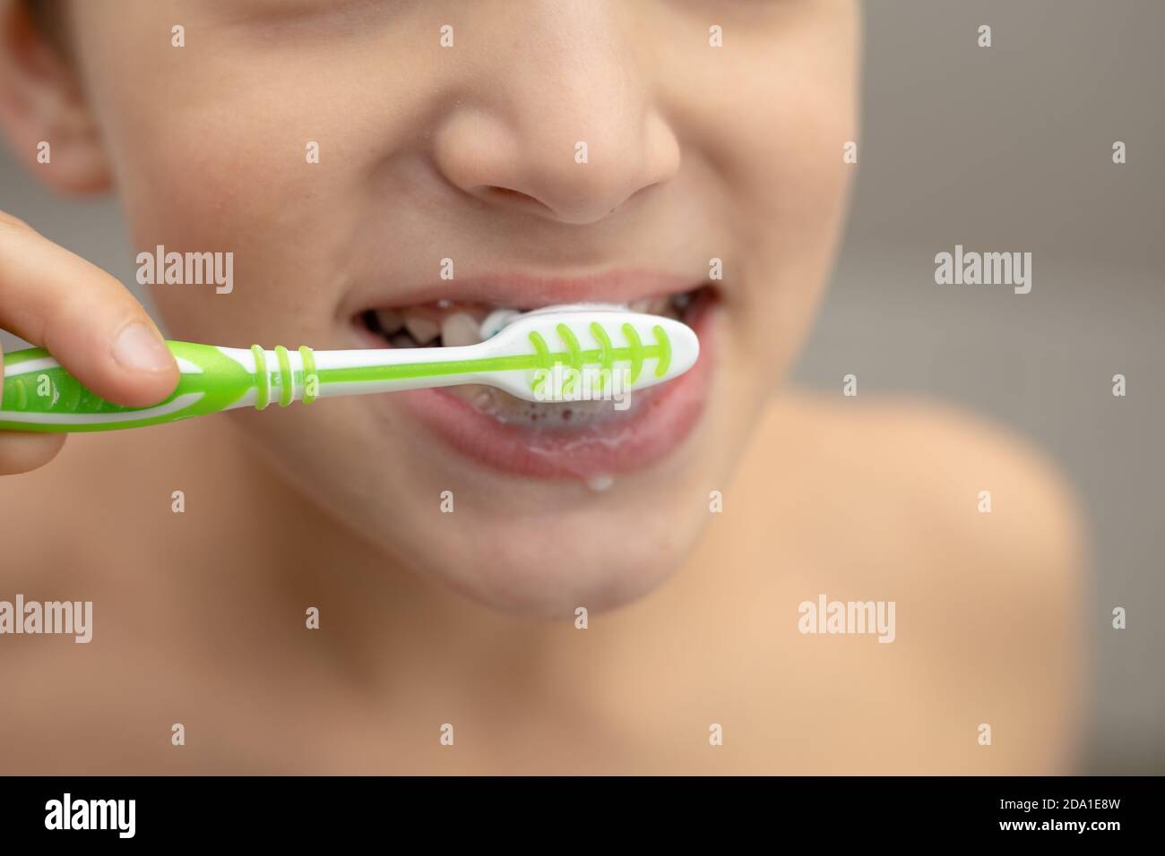
[[[123,408],[87,390],[43,348],[6,354],[0,430],[78,432],[158,425],[242,406],[483,383],[527,401],[629,394],[684,374],[696,333],[671,318],[557,306],[517,316],[463,347],[312,351],[226,348],[169,341],[181,372],[174,392]]]

